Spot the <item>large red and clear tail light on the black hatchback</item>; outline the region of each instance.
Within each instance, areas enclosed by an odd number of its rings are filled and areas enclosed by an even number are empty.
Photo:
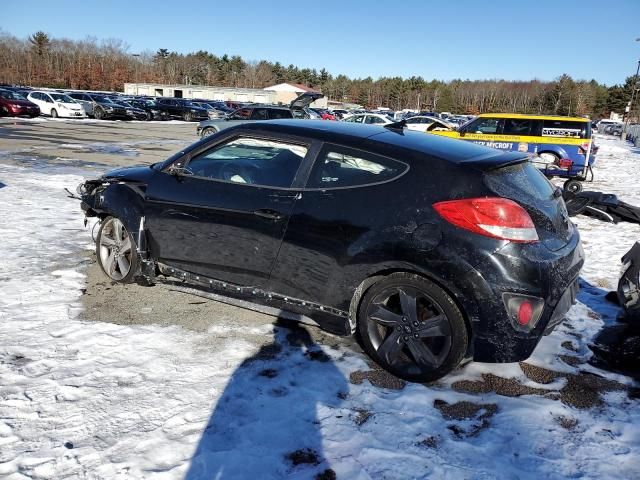
[[[479,235],[518,243],[538,241],[527,211],[507,198],[465,198],[434,203],[433,208],[447,222]]]

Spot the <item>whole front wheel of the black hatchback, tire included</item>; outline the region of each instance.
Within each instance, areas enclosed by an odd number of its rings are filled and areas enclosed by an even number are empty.
[[[113,282],[131,283],[138,273],[136,243],[118,218],[107,217],[102,221],[96,237],[96,258]]]

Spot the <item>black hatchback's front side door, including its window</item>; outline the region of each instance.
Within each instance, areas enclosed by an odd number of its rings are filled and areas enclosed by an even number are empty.
[[[218,280],[264,286],[309,150],[303,139],[235,131],[178,159],[147,189],[154,258]]]

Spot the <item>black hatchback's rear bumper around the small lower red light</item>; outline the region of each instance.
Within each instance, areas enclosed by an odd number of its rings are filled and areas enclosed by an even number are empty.
[[[471,322],[472,355],[478,362],[526,360],[544,335],[560,324],[575,302],[584,252],[576,234],[557,252],[540,244],[509,244],[469,272],[471,301],[478,315]],[[540,320],[530,332],[517,331],[502,301],[503,293],[543,298]]]

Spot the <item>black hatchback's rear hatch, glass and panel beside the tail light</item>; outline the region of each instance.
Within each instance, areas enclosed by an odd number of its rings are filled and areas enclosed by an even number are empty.
[[[494,168],[484,173],[485,185],[497,195],[522,206],[549,250],[564,247],[573,234],[560,190],[529,161]]]

